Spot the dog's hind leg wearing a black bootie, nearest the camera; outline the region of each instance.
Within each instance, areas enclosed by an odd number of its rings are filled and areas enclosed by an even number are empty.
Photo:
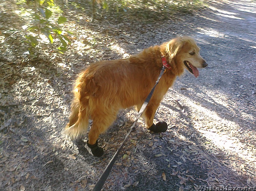
[[[103,155],[103,149],[98,146],[98,137],[114,122],[116,115],[117,111],[105,115],[101,112],[99,115],[92,116],[93,124],[88,134],[87,145],[94,156],[101,157]]]

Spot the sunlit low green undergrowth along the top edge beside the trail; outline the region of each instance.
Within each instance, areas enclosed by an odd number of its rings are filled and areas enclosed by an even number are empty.
[[[205,0],[97,0],[98,10],[106,13],[133,12],[138,19],[155,19],[154,16],[169,17],[177,12],[189,13],[205,7]],[[93,5],[94,6],[94,5]]]

